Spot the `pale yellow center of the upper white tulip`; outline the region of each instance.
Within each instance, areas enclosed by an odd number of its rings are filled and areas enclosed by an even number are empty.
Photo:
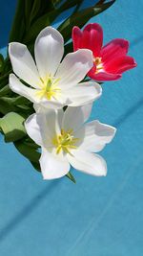
[[[46,97],[48,100],[51,100],[51,98],[56,99],[61,91],[58,87],[60,79],[48,77],[46,80],[40,80],[42,81],[42,86],[40,86],[41,89],[37,92],[37,95],[40,98]]]

